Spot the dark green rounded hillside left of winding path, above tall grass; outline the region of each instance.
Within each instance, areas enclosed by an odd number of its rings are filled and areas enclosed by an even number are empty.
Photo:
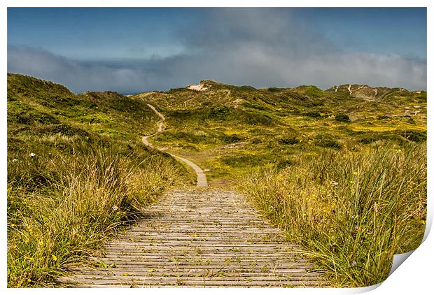
[[[91,134],[91,141],[105,137],[135,143],[157,120],[146,104],[114,92],[73,94],[62,85],[8,74],[10,136]]]

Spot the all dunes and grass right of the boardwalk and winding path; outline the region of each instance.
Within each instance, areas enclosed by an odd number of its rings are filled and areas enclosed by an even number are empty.
[[[202,85],[133,96],[167,118],[151,141],[241,189],[332,285],[381,282],[421,243],[426,92]]]

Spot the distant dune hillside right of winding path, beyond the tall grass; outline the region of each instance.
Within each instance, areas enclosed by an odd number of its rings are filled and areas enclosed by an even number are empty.
[[[195,159],[215,183],[258,166],[287,166],[300,153],[426,139],[426,92],[349,86],[255,89],[203,80],[131,98],[167,117],[153,142]]]

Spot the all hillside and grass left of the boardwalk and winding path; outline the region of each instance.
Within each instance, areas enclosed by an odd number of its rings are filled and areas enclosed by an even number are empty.
[[[8,74],[8,287],[49,286],[189,176],[141,145],[158,117],[120,94]]]

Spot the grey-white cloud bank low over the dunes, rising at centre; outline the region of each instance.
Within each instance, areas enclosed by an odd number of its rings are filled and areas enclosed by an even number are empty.
[[[426,89],[426,60],[342,52],[280,10],[211,10],[177,30],[186,50],[172,57],[84,61],[9,45],[8,71],[59,82],[73,92],[137,93],[204,79],[253,87],[350,83]]]

